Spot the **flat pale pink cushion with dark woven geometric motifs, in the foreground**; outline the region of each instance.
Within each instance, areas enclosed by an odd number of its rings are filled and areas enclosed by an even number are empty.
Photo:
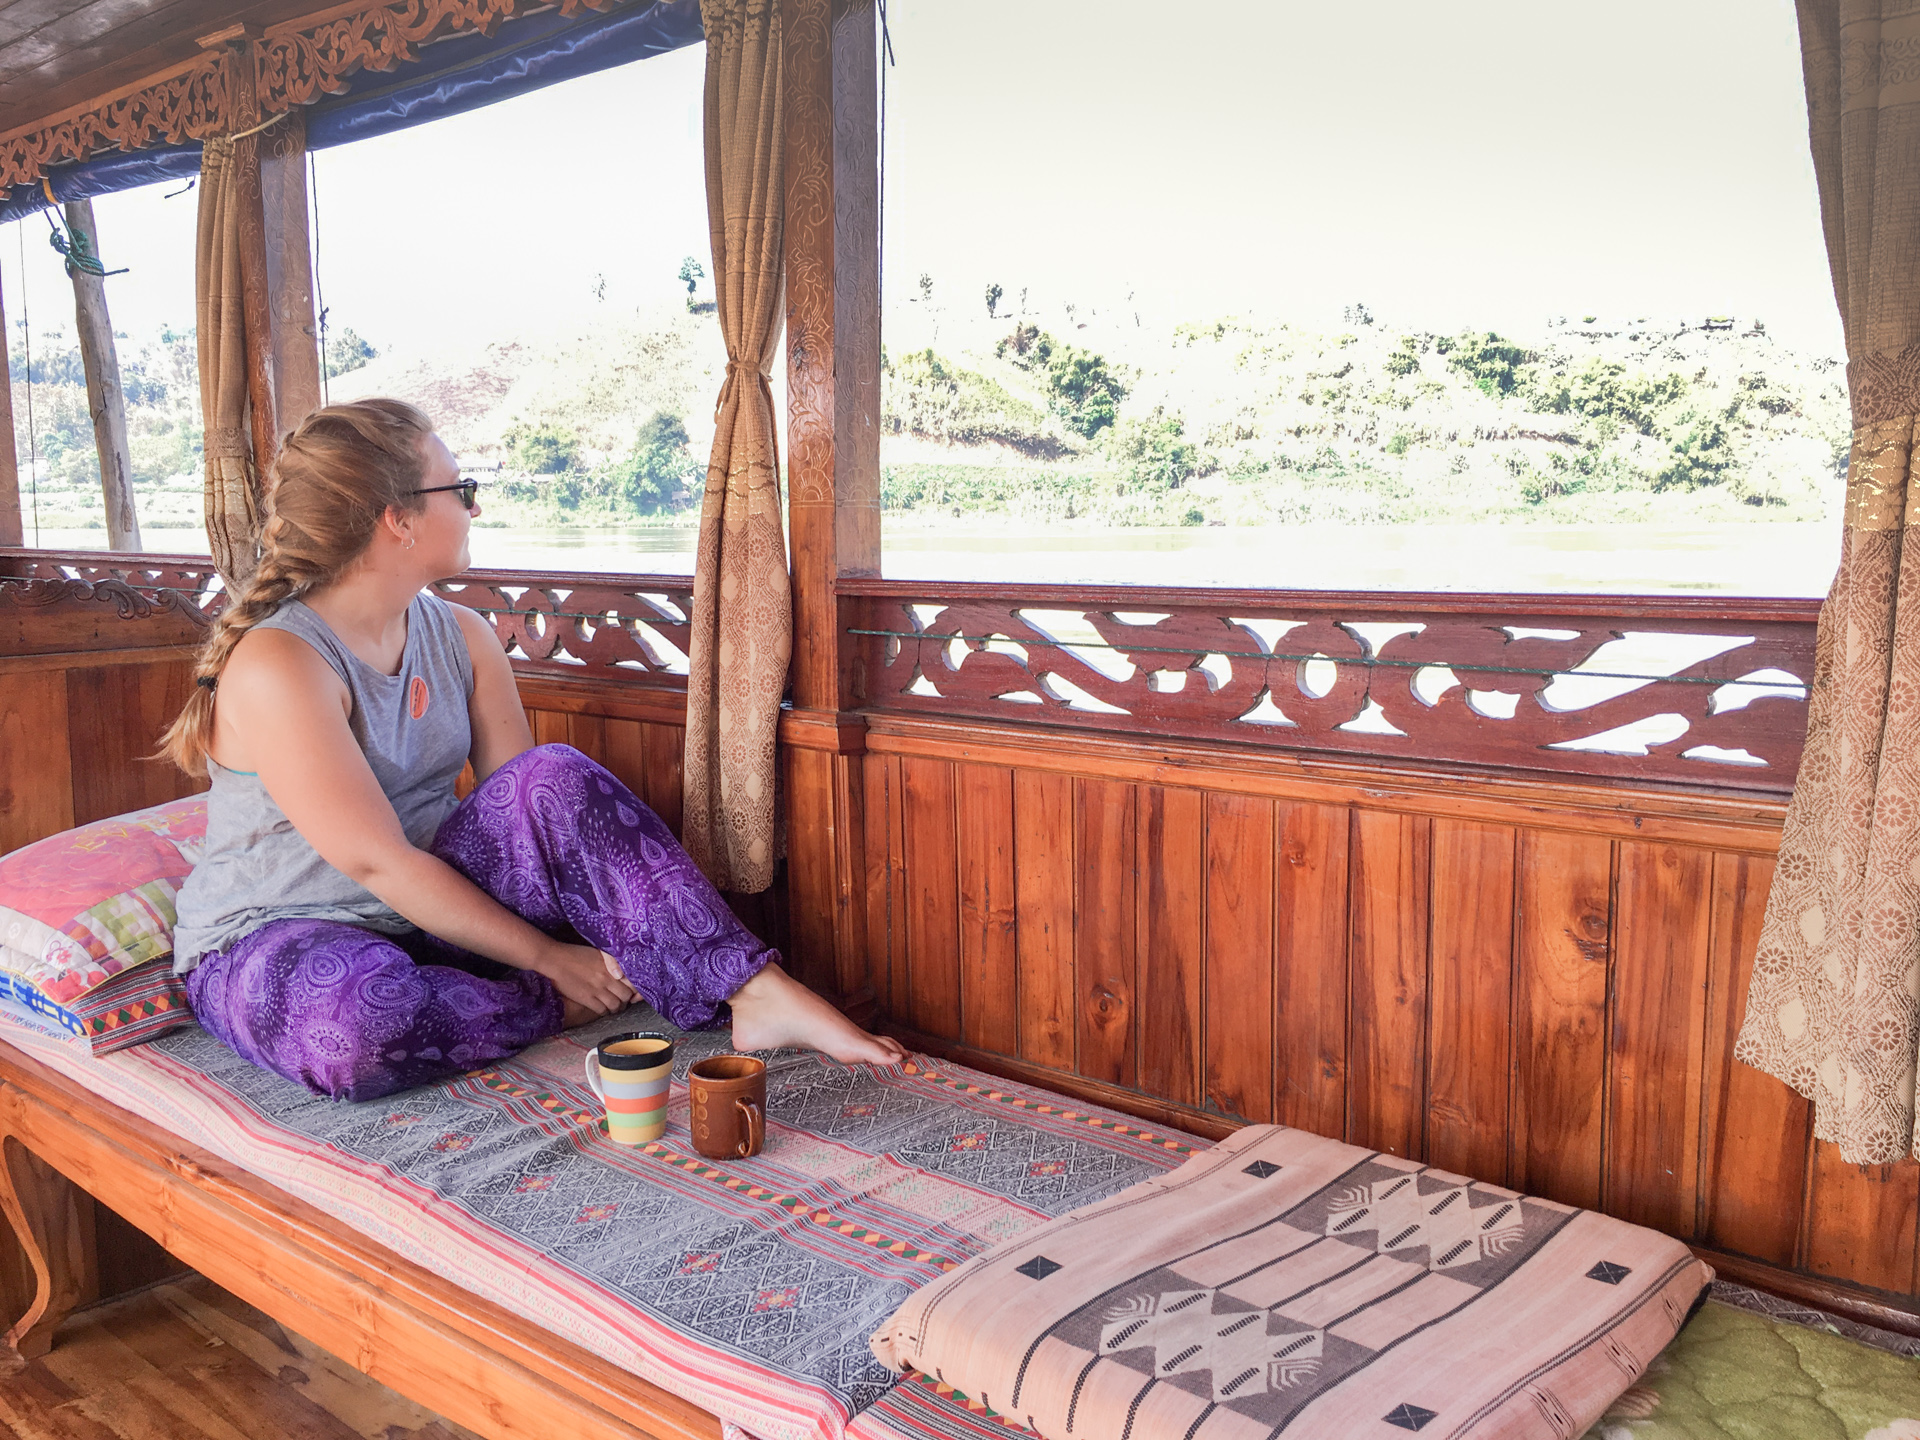
[[[874,1352],[1046,1440],[1571,1440],[1711,1279],[1655,1231],[1250,1125],[916,1290]]]

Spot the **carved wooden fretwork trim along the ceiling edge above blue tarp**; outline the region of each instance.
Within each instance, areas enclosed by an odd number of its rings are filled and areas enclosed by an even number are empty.
[[[632,0],[561,0],[557,8],[563,17],[574,17],[626,2]],[[42,29],[84,12],[125,4],[127,0],[94,0],[52,15]],[[58,10],[58,0],[35,10],[46,15]],[[363,69],[392,69],[417,60],[420,48],[436,40],[463,33],[492,35],[509,19],[549,10],[555,10],[553,0],[388,0],[328,6],[269,25],[255,31],[257,38],[252,40],[259,109],[271,115],[313,104],[346,90],[348,81]],[[33,27],[27,27],[25,35],[31,33]],[[69,52],[75,48],[86,44],[69,46]],[[54,52],[40,54],[44,58],[29,69],[56,58]],[[232,129],[230,88],[223,54],[207,50],[52,117],[4,131],[0,190],[33,184],[54,165],[88,159],[102,150],[144,150],[225,134]]]

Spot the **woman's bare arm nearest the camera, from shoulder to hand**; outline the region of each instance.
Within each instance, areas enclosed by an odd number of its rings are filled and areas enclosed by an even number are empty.
[[[407,841],[348,728],[349,703],[340,676],[307,641],[284,630],[255,630],[221,672],[215,758],[253,770],[323,860],[420,929],[547,975],[576,1004],[601,1012],[624,1006],[632,991],[595,950],[543,935]]]

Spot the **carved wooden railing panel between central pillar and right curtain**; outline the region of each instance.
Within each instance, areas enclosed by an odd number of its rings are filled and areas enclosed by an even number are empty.
[[[1816,601],[845,580],[876,710],[1788,793]]]

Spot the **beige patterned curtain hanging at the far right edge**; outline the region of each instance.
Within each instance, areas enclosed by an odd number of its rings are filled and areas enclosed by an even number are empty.
[[[1809,1096],[1845,1160],[1885,1164],[1916,1146],[1920,0],[1799,0],[1799,27],[1853,459],[1736,1054]]]

